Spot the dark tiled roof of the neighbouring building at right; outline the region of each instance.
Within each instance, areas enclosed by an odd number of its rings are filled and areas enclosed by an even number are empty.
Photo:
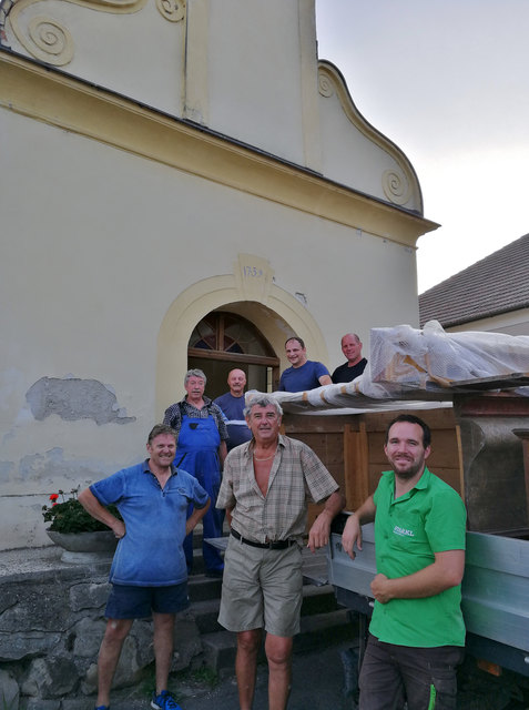
[[[420,326],[461,325],[529,307],[529,234],[419,295]]]

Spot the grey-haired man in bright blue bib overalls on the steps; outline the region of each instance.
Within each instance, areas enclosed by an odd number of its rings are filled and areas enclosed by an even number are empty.
[[[228,438],[223,414],[216,404],[204,396],[206,376],[202,369],[185,374],[185,397],[171,405],[163,418],[179,434],[175,466],[194,476],[214,503],[221,486],[221,470],[226,458]],[[191,508],[191,507],[190,507]],[[189,511],[191,515],[192,508]],[[223,515],[212,505],[202,520],[204,537],[222,536]],[[208,577],[222,577],[224,562],[217,549],[203,544],[203,556]],[[193,566],[193,536],[184,540],[187,571]]]

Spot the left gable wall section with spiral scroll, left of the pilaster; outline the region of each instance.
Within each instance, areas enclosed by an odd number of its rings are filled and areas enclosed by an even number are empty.
[[[182,115],[185,13],[154,0],[19,0],[7,43],[96,85]],[[155,41],[153,41],[155,38]],[[44,41],[47,39],[47,41]]]

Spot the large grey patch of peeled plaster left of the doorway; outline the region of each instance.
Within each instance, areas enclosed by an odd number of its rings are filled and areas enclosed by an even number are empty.
[[[67,422],[93,419],[95,424],[129,424],[136,420],[126,416],[115,394],[96,379],[41,377],[28,389],[26,399],[35,419],[57,414]]]

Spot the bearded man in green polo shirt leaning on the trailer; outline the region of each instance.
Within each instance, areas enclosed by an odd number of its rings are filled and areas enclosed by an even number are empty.
[[[455,710],[462,659],[460,609],[466,511],[459,495],[426,467],[430,429],[394,419],[384,450],[391,465],[342,537],[354,559],[362,525],[375,521],[375,609],[360,670],[359,710]]]

